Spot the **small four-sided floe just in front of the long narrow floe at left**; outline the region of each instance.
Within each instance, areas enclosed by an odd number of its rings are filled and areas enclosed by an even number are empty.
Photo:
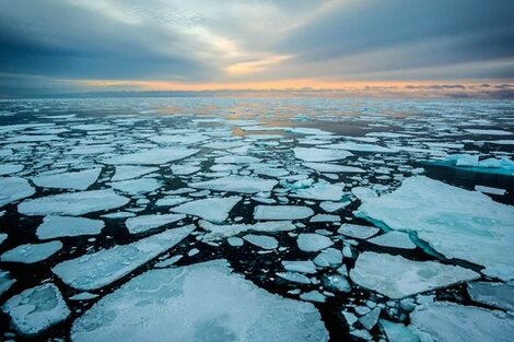
[[[48,215],[43,219],[43,223],[37,227],[36,235],[40,239],[97,235],[104,225],[102,220]]]

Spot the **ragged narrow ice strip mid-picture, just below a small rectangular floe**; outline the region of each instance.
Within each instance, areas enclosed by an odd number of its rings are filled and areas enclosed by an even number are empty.
[[[208,221],[200,221],[200,227],[209,232],[203,235],[202,239],[217,240],[224,237],[231,237],[243,232],[264,232],[264,233],[274,233],[274,232],[287,232],[294,231],[296,226],[290,221],[268,221],[268,222],[257,222],[254,224],[226,224],[226,225],[217,225]]]

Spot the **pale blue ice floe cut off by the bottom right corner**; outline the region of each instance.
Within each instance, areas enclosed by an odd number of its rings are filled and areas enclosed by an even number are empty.
[[[410,322],[422,341],[510,342],[514,335],[512,317],[447,302],[417,307]]]

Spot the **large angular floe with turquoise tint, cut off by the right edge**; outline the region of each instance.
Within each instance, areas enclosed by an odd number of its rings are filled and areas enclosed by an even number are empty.
[[[514,279],[514,208],[481,192],[412,177],[392,193],[363,198],[358,215],[416,233],[446,258],[483,266],[487,275]]]

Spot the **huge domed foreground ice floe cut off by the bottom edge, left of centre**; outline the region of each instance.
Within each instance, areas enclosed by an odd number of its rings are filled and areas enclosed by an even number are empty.
[[[127,310],[127,308],[130,308]],[[226,261],[143,273],[96,303],[71,328],[81,341],[328,341],[316,308],[272,295]]]

